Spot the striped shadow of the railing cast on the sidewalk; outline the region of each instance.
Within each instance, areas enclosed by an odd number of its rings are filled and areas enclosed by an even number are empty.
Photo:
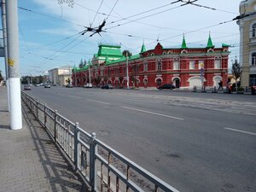
[[[82,178],[74,174],[73,167],[68,163],[65,155],[56,147],[47,131],[24,103],[22,103],[22,114],[52,191],[89,191]]]

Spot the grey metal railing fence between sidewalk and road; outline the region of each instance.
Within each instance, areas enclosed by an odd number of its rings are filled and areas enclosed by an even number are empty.
[[[24,91],[21,98],[50,137],[57,143],[87,183],[91,191],[178,192],[168,183],[138,166],[107,144],[89,134],[56,110],[38,102]]]

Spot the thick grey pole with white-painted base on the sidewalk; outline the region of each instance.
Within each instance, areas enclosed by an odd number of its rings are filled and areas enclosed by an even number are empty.
[[[21,99],[20,99],[20,62],[19,62],[19,31],[17,0],[6,1],[6,26],[8,66],[9,66],[9,102],[10,128],[22,128]]]

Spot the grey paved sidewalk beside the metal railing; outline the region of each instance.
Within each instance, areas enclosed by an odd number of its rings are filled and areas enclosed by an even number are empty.
[[[0,87],[0,192],[88,191],[24,103],[22,121],[21,130],[9,129],[7,90]]]

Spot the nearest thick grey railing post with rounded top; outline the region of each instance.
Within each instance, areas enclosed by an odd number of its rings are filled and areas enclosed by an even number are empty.
[[[95,191],[96,183],[96,167],[95,167],[95,154],[96,154],[96,133],[91,133],[90,138],[90,187],[91,191]]]

